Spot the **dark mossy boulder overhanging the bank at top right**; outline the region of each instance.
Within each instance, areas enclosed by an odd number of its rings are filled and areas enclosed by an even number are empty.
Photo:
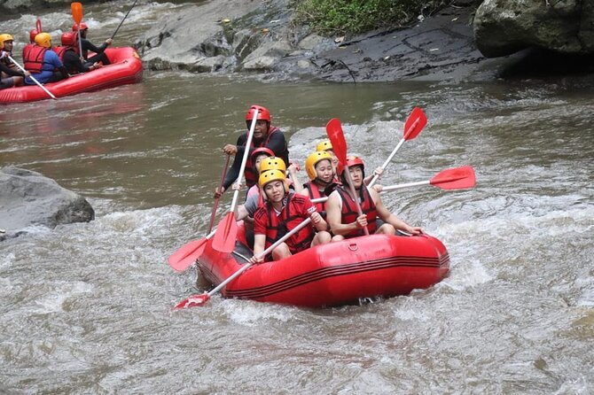
[[[594,0],[485,0],[473,30],[488,58],[530,47],[589,55],[594,53]]]

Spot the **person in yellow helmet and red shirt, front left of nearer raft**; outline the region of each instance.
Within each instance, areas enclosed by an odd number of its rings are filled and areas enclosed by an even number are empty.
[[[330,243],[328,224],[317,213],[316,206],[309,197],[295,194],[289,190],[286,176],[279,170],[269,170],[260,174],[259,184],[266,198],[266,203],[254,213],[254,257],[252,263],[262,263],[262,252],[274,244],[302,221],[310,219],[311,226],[301,228],[293,236],[277,245],[271,252],[272,260],[285,259],[310,246]]]

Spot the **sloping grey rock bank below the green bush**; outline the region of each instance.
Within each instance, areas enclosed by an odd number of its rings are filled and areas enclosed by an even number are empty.
[[[474,43],[474,1],[419,16],[408,28],[344,40],[294,26],[287,0],[227,3],[197,5],[147,32],[137,43],[145,64],[156,70],[342,82],[490,79],[501,64],[489,62]]]

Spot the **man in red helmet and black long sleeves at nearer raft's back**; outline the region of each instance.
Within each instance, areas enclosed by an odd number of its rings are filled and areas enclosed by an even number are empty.
[[[241,159],[244,152],[249,150],[250,154],[254,149],[259,147],[267,147],[274,152],[275,156],[283,159],[285,163],[289,163],[289,149],[286,143],[283,132],[270,124],[270,111],[262,105],[252,105],[246,113],[246,125],[250,128],[252,120],[254,120],[254,113],[258,115],[255,117],[254,137],[249,147],[246,147],[247,132],[238,137],[237,143],[227,144],[223,147],[223,151],[227,155],[235,155],[231,169],[227,173],[223,186],[215,189],[215,198],[221,197],[223,192],[227,190],[231,184],[238,179],[239,168],[241,166]],[[244,171],[246,177],[247,188],[251,188],[258,181],[258,174],[254,170],[254,163],[252,160],[247,160],[246,169]]]

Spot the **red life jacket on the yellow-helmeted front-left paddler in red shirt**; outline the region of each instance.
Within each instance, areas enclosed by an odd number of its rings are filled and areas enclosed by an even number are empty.
[[[283,211],[279,215],[277,215],[270,202],[267,202],[264,206],[266,208],[266,215],[268,216],[266,248],[270,247],[270,245],[274,244],[282,236],[285,236],[289,230],[296,228],[305,220],[302,216],[298,216],[296,213],[291,213],[291,209],[293,208],[292,203],[303,205],[305,204],[305,197],[289,193],[286,198],[285,207],[283,207]],[[285,243],[292,253],[301,252],[309,248],[314,236],[315,233],[313,229],[306,226],[285,240]]]

